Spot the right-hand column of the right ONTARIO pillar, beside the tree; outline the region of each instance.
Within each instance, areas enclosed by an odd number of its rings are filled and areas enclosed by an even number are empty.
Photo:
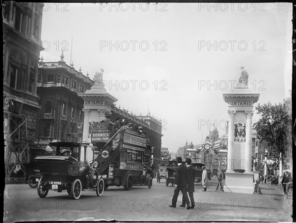
[[[252,173],[252,117],[254,111],[245,111],[247,114],[246,126],[246,149],[245,159],[247,161],[246,173]]]

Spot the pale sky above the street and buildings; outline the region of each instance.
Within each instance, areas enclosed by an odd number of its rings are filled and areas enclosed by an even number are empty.
[[[64,49],[91,79],[103,68],[116,106],[161,119],[174,152],[225,134],[240,66],[260,104],[291,90],[292,3],[44,3],[41,41],[43,62]]]

